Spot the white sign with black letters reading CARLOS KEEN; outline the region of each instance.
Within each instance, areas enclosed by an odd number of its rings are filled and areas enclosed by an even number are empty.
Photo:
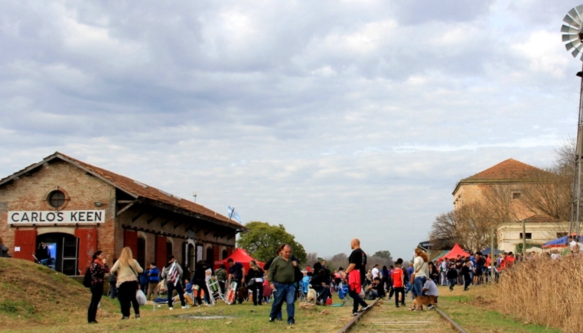
[[[106,211],[11,211],[8,224],[104,223]]]

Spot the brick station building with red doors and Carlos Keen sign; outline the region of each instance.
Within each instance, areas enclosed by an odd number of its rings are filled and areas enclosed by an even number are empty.
[[[132,248],[142,267],[174,254],[186,271],[227,258],[245,230],[194,202],[56,152],[0,180],[0,235],[14,258],[46,244],[54,268],[80,275],[94,251]],[[41,251],[41,254],[47,251]]]

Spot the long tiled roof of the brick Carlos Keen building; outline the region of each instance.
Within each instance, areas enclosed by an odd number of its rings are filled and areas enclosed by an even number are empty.
[[[26,167],[25,169],[15,174],[12,174],[12,176],[3,178],[2,180],[0,180],[0,185],[10,180],[11,178],[19,176],[19,174],[30,171],[31,169],[35,169],[36,167],[48,162],[49,160],[54,159],[55,157],[65,160],[66,162],[69,163],[77,164],[77,166],[90,171],[90,173],[96,174],[96,176],[100,176],[105,180],[110,181],[115,187],[118,187],[120,188],[120,190],[128,192],[129,194],[133,194],[135,197],[142,197],[151,199],[153,201],[159,201],[163,204],[171,205],[176,208],[181,208],[189,212],[199,213],[201,215],[205,215],[210,218],[229,223],[230,225],[237,229],[246,229],[240,223],[237,223],[233,220],[229,220],[229,218],[227,218],[226,216],[221,215],[215,211],[212,211],[206,208],[205,206],[195,204],[194,202],[189,201],[187,199],[175,197],[174,195],[171,195],[170,193],[164,191],[160,191],[155,187],[151,187],[149,185],[140,183],[139,181],[135,181],[131,178],[121,176],[120,174],[113,173],[109,170],[101,169],[100,167],[93,166],[92,164],[85,163],[83,161],[74,159],[73,157],[64,155],[59,152],[56,152],[53,155],[48,156],[40,163],[32,164],[31,166]]]

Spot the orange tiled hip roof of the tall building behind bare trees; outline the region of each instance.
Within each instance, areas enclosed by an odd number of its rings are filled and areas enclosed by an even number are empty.
[[[507,159],[463,180],[533,180],[546,172],[515,159]]]

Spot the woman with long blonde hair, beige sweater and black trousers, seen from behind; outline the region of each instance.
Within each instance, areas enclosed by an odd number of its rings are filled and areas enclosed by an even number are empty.
[[[143,269],[134,259],[131,248],[124,247],[121,250],[120,258],[111,268],[111,274],[114,272],[117,272],[117,298],[120,300],[122,320],[129,319],[130,303],[134,306],[136,319],[139,319],[140,306],[136,300],[136,290],[138,290],[138,274],[142,273]]]

